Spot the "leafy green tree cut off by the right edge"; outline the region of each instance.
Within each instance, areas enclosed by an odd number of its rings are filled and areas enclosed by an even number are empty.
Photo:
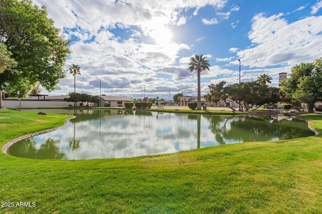
[[[282,93],[293,103],[306,103],[308,112],[313,113],[314,103],[322,100],[322,58],[295,65],[291,72],[282,82]]]

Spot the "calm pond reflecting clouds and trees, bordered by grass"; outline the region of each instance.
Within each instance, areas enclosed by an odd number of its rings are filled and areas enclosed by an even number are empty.
[[[117,110],[44,111],[74,114],[76,118],[61,129],[14,143],[8,154],[33,159],[123,158],[314,135],[307,123],[282,116],[140,110],[121,110],[121,114]]]

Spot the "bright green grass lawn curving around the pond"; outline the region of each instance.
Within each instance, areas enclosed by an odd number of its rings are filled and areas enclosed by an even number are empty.
[[[0,146],[67,117],[0,110]],[[301,117],[322,133],[322,115]],[[0,213],[322,213],[321,136],[122,159],[0,152]]]

